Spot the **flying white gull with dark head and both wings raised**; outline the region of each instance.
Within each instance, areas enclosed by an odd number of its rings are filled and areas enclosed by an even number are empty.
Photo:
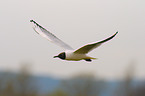
[[[115,34],[113,34],[112,36],[110,36],[107,39],[104,39],[104,40],[101,40],[101,41],[98,41],[95,43],[91,43],[91,44],[86,44],[86,45],[82,46],[81,48],[74,50],[72,47],[70,47],[69,45],[64,43],[62,40],[57,38],[51,32],[47,31],[44,27],[39,25],[34,20],[30,20],[30,22],[33,24],[34,31],[36,31],[39,35],[41,35],[42,37],[51,41],[52,43],[55,43],[56,45],[62,47],[65,50],[64,52],[61,52],[60,54],[58,54],[57,56],[54,56],[53,58],[60,58],[62,60],[69,60],[69,61],[85,60],[85,61],[91,62],[92,59],[97,59],[97,58],[88,56],[87,53],[89,53],[93,49],[99,47],[103,43],[111,40],[118,33],[118,31],[117,31]]]

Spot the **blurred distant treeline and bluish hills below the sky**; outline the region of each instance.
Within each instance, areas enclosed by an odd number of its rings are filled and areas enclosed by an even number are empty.
[[[38,83],[26,67],[22,67],[17,74],[1,72],[0,96],[145,96],[145,82],[134,80],[132,69],[126,71],[124,80],[112,83],[93,74],[79,74],[67,80],[60,80],[55,88],[51,82],[50,86],[47,85],[48,82],[42,80]],[[44,89],[40,83],[48,86],[48,91],[40,91]]]

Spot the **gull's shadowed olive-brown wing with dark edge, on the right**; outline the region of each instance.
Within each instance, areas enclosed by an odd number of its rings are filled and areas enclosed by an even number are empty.
[[[99,47],[102,43],[111,40],[113,37],[115,37],[115,35],[117,33],[118,32],[116,32],[114,35],[112,35],[111,37],[109,37],[109,38],[107,38],[105,40],[99,41],[97,43],[85,45],[85,46],[79,48],[78,50],[76,50],[74,53],[77,53],[77,54],[87,54],[88,52],[92,51],[93,49]]]

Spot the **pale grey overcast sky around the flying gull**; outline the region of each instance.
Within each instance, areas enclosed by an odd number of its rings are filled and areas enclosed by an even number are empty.
[[[92,73],[114,80],[133,64],[134,76],[145,78],[144,0],[0,1],[1,71],[17,72],[27,64],[33,74],[69,78]],[[119,33],[88,54],[98,60],[63,61],[53,58],[63,50],[36,34],[31,19],[74,49]]]

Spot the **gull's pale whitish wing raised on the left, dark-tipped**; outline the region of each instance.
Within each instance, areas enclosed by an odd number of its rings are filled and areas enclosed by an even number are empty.
[[[65,44],[63,41],[61,41],[59,38],[57,38],[55,35],[47,31],[45,28],[40,26],[38,23],[36,23],[34,20],[30,20],[30,22],[33,23],[33,29],[40,34],[42,37],[45,37],[47,40],[55,43],[56,45],[64,48],[65,50],[73,50],[69,45]]]

